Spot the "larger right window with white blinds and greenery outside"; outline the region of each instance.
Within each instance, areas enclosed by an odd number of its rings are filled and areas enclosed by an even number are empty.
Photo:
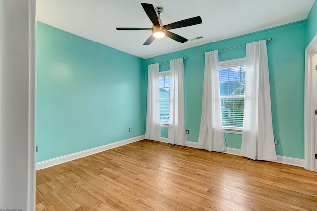
[[[219,62],[222,126],[242,130],[245,87],[245,58]]]

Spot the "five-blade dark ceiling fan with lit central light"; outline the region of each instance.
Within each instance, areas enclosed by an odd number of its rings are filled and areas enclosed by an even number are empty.
[[[175,41],[184,43],[188,41],[188,39],[177,35],[175,33],[172,33],[168,30],[170,29],[176,29],[186,26],[192,26],[196,24],[201,24],[202,19],[200,16],[188,18],[185,20],[177,21],[171,24],[163,25],[162,20],[160,19],[160,15],[163,12],[163,7],[156,7],[154,9],[152,4],[148,3],[141,3],[145,13],[150,18],[151,22],[153,23],[152,28],[116,28],[117,30],[152,30],[152,35],[143,43],[143,45],[149,45],[151,42],[154,41],[155,38],[162,38],[165,35]],[[158,14],[158,16],[157,16]]]

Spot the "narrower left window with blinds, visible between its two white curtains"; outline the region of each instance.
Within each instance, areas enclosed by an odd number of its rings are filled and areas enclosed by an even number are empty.
[[[169,123],[169,86],[170,72],[159,72],[160,122],[165,125]]]

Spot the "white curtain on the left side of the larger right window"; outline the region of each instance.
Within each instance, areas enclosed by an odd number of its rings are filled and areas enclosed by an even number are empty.
[[[218,51],[206,52],[198,147],[210,152],[223,152],[227,149],[221,120],[218,66]]]

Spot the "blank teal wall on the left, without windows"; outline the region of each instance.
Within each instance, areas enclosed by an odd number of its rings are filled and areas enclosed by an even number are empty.
[[[144,135],[143,59],[39,22],[36,45],[36,162]]]

